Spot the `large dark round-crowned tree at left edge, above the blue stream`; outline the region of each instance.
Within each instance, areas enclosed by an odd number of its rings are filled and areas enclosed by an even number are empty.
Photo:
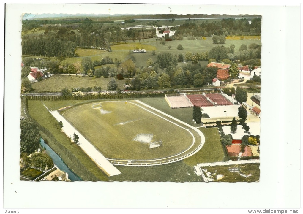
[[[40,133],[38,124],[32,118],[26,117],[20,121],[21,153],[32,153],[39,148]]]

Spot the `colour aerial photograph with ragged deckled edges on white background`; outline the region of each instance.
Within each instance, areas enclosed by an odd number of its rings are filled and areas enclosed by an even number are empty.
[[[259,182],[261,22],[24,13],[20,180]]]

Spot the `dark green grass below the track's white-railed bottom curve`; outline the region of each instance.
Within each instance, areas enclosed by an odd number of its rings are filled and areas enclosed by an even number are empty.
[[[187,166],[183,161],[159,166],[116,166],[122,173],[110,177],[114,181],[202,181],[194,168]]]

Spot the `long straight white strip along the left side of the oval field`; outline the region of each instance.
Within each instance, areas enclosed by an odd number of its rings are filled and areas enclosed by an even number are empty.
[[[82,136],[58,111],[49,111],[56,120],[61,120],[63,123],[62,131],[69,137],[73,137],[74,133],[79,136],[79,147],[104,171],[108,176],[121,174],[121,172],[106,160],[106,158]]]

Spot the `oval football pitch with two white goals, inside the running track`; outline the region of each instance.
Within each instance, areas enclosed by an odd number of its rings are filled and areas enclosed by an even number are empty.
[[[62,116],[107,158],[164,158],[186,150],[193,141],[187,130],[125,101],[102,102],[101,110],[81,105]],[[149,143],[160,140],[161,147],[149,148]]]

